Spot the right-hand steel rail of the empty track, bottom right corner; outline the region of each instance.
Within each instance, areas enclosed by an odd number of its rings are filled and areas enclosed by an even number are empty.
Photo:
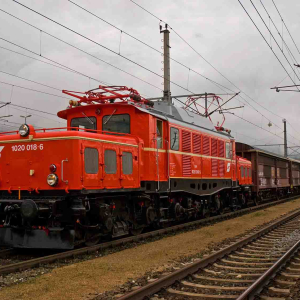
[[[290,248],[270,269],[261,275],[237,300],[253,300],[286,263],[299,251],[300,241]]]

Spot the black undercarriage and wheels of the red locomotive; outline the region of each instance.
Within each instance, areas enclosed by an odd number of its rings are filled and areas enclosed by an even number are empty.
[[[209,196],[142,192],[0,200],[0,246],[72,249],[145,228],[205,218],[247,205],[250,190]]]

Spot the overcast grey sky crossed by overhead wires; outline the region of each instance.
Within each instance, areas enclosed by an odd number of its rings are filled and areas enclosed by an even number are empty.
[[[88,14],[68,0],[18,1],[117,53],[119,53],[120,50],[123,56],[139,63],[145,68],[157,74],[163,74],[161,54],[137,42],[124,33],[122,34],[120,45],[120,31],[118,29]],[[300,49],[300,2],[297,0],[274,1]],[[159,32],[159,20],[143,11],[130,0],[74,0],[74,2],[123,31],[151,45],[153,48],[162,51],[162,35]],[[279,83],[280,85],[291,85],[293,83],[291,79],[287,77],[287,73],[268,48],[258,30],[251,23],[251,20],[238,0],[136,0],[136,2],[166,21],[180,36],[190,43],[199,54],[235,86],[189,48],[173,31],[170,33],[172,58],[230,90],[244,92],[241,93],[243,99],[236,97],[225,105],[225,107],[228,108],[246,104],[245,108],[232,111],[235,115],[226,114],[224,126],[232,130],[233,136],[235,136],[238,141],[250,144],[283,142],[281,138],[277,138],[243,121],[237,116],[265,130],[270,130],[273,134],[278,134],[281,137],[283,137],[282,117],[284,117],[288,121],[288,133],[290,134],[288,136],[290,142],[289,146],[300,145],[300,128],[298,126],[299,94],[295,92],[276,93],[274,90],[270,90],[271,87]],[[266,40],[270,43],[270,34],[259,19],[251,2],[249,0],[241,0],[241,2],[260,28]],[[263,10],[261,2],[259,0],[253,0],[253,3],[269,26],[270,21],[266,12]],[[262,0],[262,3],[282,33],[282,22],[272,0]],[[155,74],[132,64],[128,60],[95,43],[87,41],[79,35],[54,24],[11,0],[1,0],[0,9],[38,28],[30,27],[0,11],[0,47],[2,47],[0,48],[0,71],[39,82],[54,87],[57,90],[0,72],[1,82],[64,96],[59,90],[86,91],[99,85],[99,82],[89,79],[90,77],[108,84],[133,87],[147,97],[158,97],[162,94],[163,79]],[[42,30],[42,33],[39,29]],[[280,47],[282,47],[282,40],[272,24],[270,29],[274,37],[278,40]],[[94,57],[58,41],[45,32],[73,46],[79,47]],[[296,61],[300,63],[300,54],[285,28],[283,29],[283,37],[296,58]],[[3,39],[22,46],[34,53],[41,53],[42,56],[40,57],[39,55],[30,53]],[[293,70],[275,42],[271,41],[271,45],[288,73],[291,74],[290,76],[294,82],[298,84],[298,78],[293,73]],[[45,62],[49,62],[45,58],[51,59],[86,76],[68,72],[61,68],[21,56],[17,53],[5,50],[3,47]],[[283,53],[293,65],[293,61],[285,47],[283,48]],[[133,76],[105,64],[103,61],[123,69]],[[295,72],[300,78],[299,71],[300,69]],[[231,93],[228,89],[220,89],[209,80],[204,79],[193,71],[189,71],[174,61],[171,62],[171,80],[184,88],[171,84],[172,95],[189,93],[186,89],[192,93],[224,93],[224,90],[226,93]],[[248,96],[272,111],[275,115],[260,107]],[[225,95],[223,99],[224,101],[227,100],[228,96]],[[11,101],[16,105],[35,108],[53,114],[65,109],[68,105],[67,99],[24,90],[16,86],[12,89],[10,85],[2,83],[0,83],[0,101]],[[251,108],[251,106],[254,108]],[[6,125],[0,126],[1,131],[13,130],[15,127],[19,127],[18,124],[23,122],[20,115],[26,114],[25,109],[21,109],[22,111],[20,111],[20,109],[21,108],[18,108],[18,110],[16,110],[16,107],[13,106],[1,108],[1,116],[13,115],[13,117],[8,118],[11,123],[0,122],[0,124],[3,123]],[[27,110],[27,113],[32,115],[28,123],[34,126],[59,127],[65,124],[64,120],[60,120],[55,116],[30,110]],[[272,123],[271,127],[268,126],[269,122]],[[275,124],[280,128],[276,127]],[[294,138],[292,138],[291,135]],[[268,147],[268,150],[282,151],[282,147],[281,150],[279,148],[280,147]]]

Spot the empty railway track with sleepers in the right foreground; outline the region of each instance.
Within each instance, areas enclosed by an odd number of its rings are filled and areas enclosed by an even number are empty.
[[[300,278],[299,228],[300,210],[118,299],[283,300]]]

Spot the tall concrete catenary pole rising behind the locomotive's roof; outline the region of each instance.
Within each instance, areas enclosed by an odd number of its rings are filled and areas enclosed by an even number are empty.
[[[166,101],[169,106],[172,105],[171,89],[170,89],[170,31],[168,24],[165,24],[165,29],[159,26],[160,33],[164,34],[164,95],[163,101]]]

